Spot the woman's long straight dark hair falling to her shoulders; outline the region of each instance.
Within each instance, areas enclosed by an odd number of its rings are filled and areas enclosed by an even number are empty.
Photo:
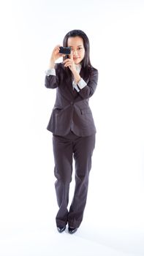
[[[64,40],[63,40],[63,47],[67,47],[67,40],[69,39],[69,37],[81,37],[83,39],[83,45],[85,48],[85,56],[84,56],[83,60],[81,61],[81,65],[82,65],[82,68],[84,69],[85,78],[88,78],[89,72],[92,67],[90,57],[89,57],[89,54],[90,54],[89,39],[88,39],[87,35],[82,30],[75,29],[75,30],[69,31],[65,35]],[[65,56],[63,59],[67,59],[67,56]],[[63,67],[63,70],[64,70],[64,72],[62,72],[63,74],[61,74],[61,75],[64,75],[64,79],[67,80],[68,77],[72,78],[72,72],[70,71],[69,68]]]

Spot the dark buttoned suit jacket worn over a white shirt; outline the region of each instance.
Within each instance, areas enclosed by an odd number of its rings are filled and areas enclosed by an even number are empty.
[[[60,65],[60,66],[58,66]],[[61,72],[57,64],[56,76],[46,75],[45,86],[49,89],[56,88],[56,102],[50,116],[47,129],[55,135],[67,135],[70,130],[78,136],[89,136],[96,132],[94,118],[88,105],[89,98],[96,90],[98,71],[91,67],[91,72],[85,82],[87,85],[77,92],[72,88],[72,78],[61,79]],[[83,78],[83,67],[80,70],[80,77]]]

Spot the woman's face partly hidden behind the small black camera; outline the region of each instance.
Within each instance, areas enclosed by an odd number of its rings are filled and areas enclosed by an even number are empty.
[[[79,64],[81,61],[83,61],[83,58],[85,56],[83,38],[69,37],[67,40],[67,46],[72,48],[72,55],[73,55],[75,64]]]

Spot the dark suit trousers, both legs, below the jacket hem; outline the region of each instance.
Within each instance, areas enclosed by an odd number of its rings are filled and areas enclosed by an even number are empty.
[[[59,207],[56,215],[57,226],[63,227],[68,222],[70,227],[79,227],[83,220],[94,147],[95,133],[86,137],[77,136],[72,131],[64,137],[53,135],[55,188]],[[75,159],[75,191],[68,211],[73,158]]]

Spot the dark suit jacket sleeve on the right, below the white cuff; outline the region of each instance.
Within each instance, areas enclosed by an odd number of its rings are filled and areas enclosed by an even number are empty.
[[[94,91],[96,90],[97,81],[98,81],[98,70],[92,69],[87,85],[84,86],[83,89],[80,89],[80,91],[78,92],[80,97],[82,97],[83,99],[90,98],[94,94]]]

